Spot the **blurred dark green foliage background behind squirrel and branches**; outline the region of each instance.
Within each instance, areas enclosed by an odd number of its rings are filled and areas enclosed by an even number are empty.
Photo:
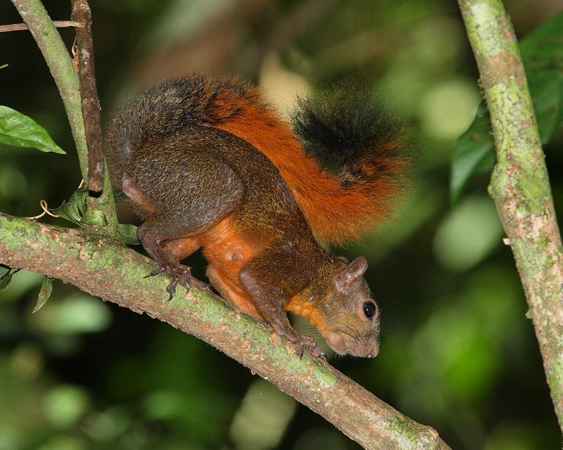
[[[524,37],[562,2],[511,0]],[[68,19],[70,2],[45,1]],[[486,196],[488,174],[450,206],[453,145],[481,99],[455,1],[91,0],[103,117],[140,86],[193,70],[238,73],[291,104],[317,82],[373,86],[412,125],[410,194],[396,220],[347,249],[365,255],[382,310],[376,359],[331,364],[456,449],[559,448],[526,300]],[[20,18],[0,3],[2,23]],[[72,44],[72,30],[61,30]],[[58,92],[27,32],[0,34],[0,104],[67,155],[0,144],[0,211],[56,207],[80,184]],[[559,43],[558,49],[561,49]],[[563,134],[546,143],[556,210]],[[413,150],[415,151],[415,150]],[[137,223],[119,207],[125,223]],[[44,218],[69,226],[63,219]],[[141,248],[137,247],[141,251]],[[203,277],[205,262],[190,264]],[[4,271],[0,272],[4,274]],[[0,293],[0,449],[355,449],[332,425],[212,347],[146,316],[19,271]],[[309,330],[298,321],[297,326]]]

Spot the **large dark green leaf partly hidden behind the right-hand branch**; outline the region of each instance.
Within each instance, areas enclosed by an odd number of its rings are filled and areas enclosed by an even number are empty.
[[[563,13],[534,30],[520,44],[542,143],[563,124]],[[479,106],[473,123],[453,149],[450,198],[457,201],[474,174],[493,168],[495,149],[488,113]]]

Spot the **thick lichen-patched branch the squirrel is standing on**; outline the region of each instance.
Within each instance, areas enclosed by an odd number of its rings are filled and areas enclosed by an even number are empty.
[[[208,342],[329,420],[366,449],[443,449],[436,431],[403,416],[327,363],[217,297],[178,289],[167,302],[156,263],[103,236],[0,214],[0,263],[72,283],[91,295],[170,323]],[[115,283],[119,280],[119,283]]]

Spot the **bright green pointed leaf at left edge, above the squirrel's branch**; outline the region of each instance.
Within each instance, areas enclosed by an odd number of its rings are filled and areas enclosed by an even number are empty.
[[[0,142],[10,146],[37,148],[42,152],[65,154],[41,125],[27,115],[1,105]]]

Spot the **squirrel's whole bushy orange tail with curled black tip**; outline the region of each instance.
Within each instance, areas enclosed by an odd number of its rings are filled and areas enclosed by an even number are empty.
[[[153,134],[186,126],[228,131],[279,169],[317,240],[343,244],[391,216],[405,179],[401,127],[377,104],[342,85],[300,99],[292,129],[250,82],[191,75],[147,89],[116,115],[110,158],[119,172],[129,148]]]

